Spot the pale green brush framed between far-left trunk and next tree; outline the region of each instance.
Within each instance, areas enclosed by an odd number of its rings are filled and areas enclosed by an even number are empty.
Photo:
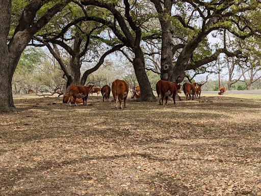
[[[41,48],[26,48],[14,73],[14,94],[28,93],[29,89],[54,91],[61,87],[65,82],[63,72],[52,60]]]

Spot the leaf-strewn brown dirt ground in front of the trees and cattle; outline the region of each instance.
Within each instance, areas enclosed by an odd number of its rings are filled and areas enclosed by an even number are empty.
[[[29,98],[0,114],[0,195],[261,195],[260,100]]]

